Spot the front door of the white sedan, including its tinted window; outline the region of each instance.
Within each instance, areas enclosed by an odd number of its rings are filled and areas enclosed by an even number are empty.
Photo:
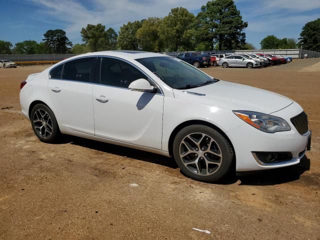
[[[132,81],[148,78],[122,59],[101,57],[99,68],[92,94],[95,135],[161,149],[162,93],[128,89]]]

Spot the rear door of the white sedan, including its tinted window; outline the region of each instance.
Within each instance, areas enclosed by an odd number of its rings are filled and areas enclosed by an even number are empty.
[[[50,71],[48,91],[60,127],[94,134],[92,89],[96,57],[81,57]]]

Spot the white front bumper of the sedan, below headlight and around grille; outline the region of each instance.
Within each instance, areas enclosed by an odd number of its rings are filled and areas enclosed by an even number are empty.
[[[307,149],[310,131],[308,130],[302,135],[299,134],[290,118],[302,111],[303,109],[293,102],[279,111],[270,113],[285,119],[290,125],[290,131],[266,133],[244,122],[226,132],[235,151],[236,171],[263,170],[299,163]],[[254,152],[289,152],[292,158],[280,162],[265,163],[260,161]]]

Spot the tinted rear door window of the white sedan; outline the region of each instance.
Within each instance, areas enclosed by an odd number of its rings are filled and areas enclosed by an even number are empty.
[[[83,57],[64,63],[62,79],[90,82],[94,57]]]

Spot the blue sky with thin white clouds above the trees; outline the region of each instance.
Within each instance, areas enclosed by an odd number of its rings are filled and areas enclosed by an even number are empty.
[[[163,17],[182,6],[195,15],[207,0],[0,0],[0,40],[42,41],[48,29],[63,29],[73,44],[81,43],[86,24],[102,23],[118,31],[123,23]],[[265,36],[297,39],[303,25],[320,17],[320,0],[235,0],[248,22],[246,41],[256,48]]]

